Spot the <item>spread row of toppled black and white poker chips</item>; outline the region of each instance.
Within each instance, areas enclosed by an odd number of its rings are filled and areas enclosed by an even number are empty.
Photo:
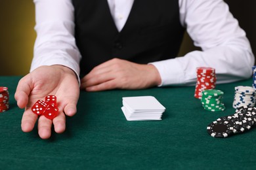
[[[256,121],[256,108],[242,106],[230,116],[218,118],[207,126],[207,133],[212,137],[228,137],[249,131]]]

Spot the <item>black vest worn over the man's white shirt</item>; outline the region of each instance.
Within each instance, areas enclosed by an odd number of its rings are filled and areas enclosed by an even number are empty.
[[[184,28],[179,0],[135,0],[121,32],[107,0],[73,0],[81,76],[112,58],[148,63],[175,58]]]

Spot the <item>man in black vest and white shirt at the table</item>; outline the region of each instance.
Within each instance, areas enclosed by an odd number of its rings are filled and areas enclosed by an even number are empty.
[[[17,86],[22,130],[32,131],[37,99],[53,94],[60,114],[40,116],[42,139],[65,130],[81,89],[141,89],[196,82],[196,67],[216,69],[218,83],[249,78],[254,56],[222,0],[34,0],[37,40],[30,74]],[[177,57],[184,27],[202,51]],[[80,62],[81,60],[81,62]],[[80,63],[79,63],[80,62]],[[79,79],[81,77],[81,80]]]

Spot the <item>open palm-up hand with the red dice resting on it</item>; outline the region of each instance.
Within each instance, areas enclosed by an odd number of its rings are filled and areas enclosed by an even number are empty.
[[[74,71],[58,65],[53,67],[39,67],[32,73],[24,76],[18,83],[15,93],[17,105],[20,108],[26,107],[22,116],[22,131],[29,132],[37,122],[37,114],[34,114],[31,107],[38,99],[44,99],[46,95],[58,97],[60,113],[53,120],[40,116],[38,119],[38,134],[41,139],[51,137],[52,127],[56,133],[62,133],[66,129],[66,115],[75,114],[77,100],[79,98],[79,84]]]

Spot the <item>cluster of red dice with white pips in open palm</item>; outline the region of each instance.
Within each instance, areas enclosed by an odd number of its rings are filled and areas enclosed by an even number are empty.
[[[53,120],[58,116],[57,97],[55,95],[47,95],[45,101],[38,100],[33,105],[32,112]]]

